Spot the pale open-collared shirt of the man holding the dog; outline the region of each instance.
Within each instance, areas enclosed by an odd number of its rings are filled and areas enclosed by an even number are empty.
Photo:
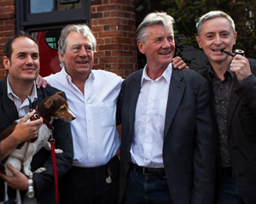
[[[9,85],[9,76],[7,77],[7,94],[9,99],[15,102],[16,109],[19,113],[19,118],[25,116],[30,109],[30,104],[28,99],[25,99],[23,103],[21,103],[19,97],[13,92],[13,89]],[[35,101],[38,99],[38,92],[36,88],[36,83],[34,82],[34,86],[32,88],[32,94],[30,94],[31,101]]]

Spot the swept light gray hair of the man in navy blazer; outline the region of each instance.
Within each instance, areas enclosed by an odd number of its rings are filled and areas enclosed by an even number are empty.
[[[146,28],[148,26],[162,25],[165,26],[166,29],[172,29],[173,31],[173,23],[174,19],[172,16],[166,14],[165,12],[154,12],[148,14],[144,18],[143,22],[137,27],[137,41],[146,43],[148,37]]]

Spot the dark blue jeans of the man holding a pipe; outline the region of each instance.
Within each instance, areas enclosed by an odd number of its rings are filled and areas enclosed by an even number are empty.
[[[216,204],[243,204],[236,188],[236,179],[221,177]]]

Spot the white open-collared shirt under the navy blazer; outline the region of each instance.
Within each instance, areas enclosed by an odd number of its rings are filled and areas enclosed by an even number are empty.
[[[171,76],[172,64],[156,80],[148,77],[147,65],[144,67],[130,150],[131,161],[138,166],[164,167],[162,152]]]

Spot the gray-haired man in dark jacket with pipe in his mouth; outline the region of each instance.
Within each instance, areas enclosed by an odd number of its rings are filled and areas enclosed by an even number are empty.
[[[211,91],[218,140],[218,204],[256,203],[256,60],[232,56],[234,21],[222,11],[204,14],[197,41],[210,65],[202,75]]]

